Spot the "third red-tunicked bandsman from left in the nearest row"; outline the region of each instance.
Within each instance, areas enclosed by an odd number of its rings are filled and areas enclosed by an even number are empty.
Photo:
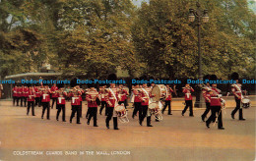
[[[60,88],[57,90],[57,115],[56,120],[59,121],[59,114],[62,111],[62,122],[66,122],[66,100],[65,97],[67,92],[64,91],[64,88]]]

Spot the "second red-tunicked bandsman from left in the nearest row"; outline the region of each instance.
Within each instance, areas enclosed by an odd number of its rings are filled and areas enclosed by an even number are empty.
[[[41,104],[42,104],[42,113],[41,119],[43,119],[43,115],[45,110],[47,110],[47,120],[50,120],[50,93],[51,90],[48,85],[42,87],[42,94],[41,94]]]

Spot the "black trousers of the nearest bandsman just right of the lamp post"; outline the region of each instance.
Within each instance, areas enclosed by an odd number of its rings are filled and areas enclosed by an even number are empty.
[[[206,121],[207,124],[210,124],[212,122],[215,122],[216,117],[218,116],[218,128],[223,127],[223,112],[221,106],[211,106],[212,115],[209,117],[209,119]]]

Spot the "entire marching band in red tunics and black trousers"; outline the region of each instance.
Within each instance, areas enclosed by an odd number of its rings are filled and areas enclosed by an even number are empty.
[[[113,76],[112,76],[113,77]],[[109,78],[109,80],[116,80],[115,78]],[[97,107],[100,106],[99,114],[101,115],[103,109],[105,108],[105,126],[109,129],[109,122],[113,118],[113,129],[119,130],[118,128],[118,118],[121,123],[128,123],[129,119],[127,117],[126,102],[129,98],[129,88],[123,84],[110,83],[109,87],[102,85],[97,91],[96,86],[93,84],[88,85],[88,89],[82,89],[79,85],[73,88],[58,88],[56,84],[53,84],[51,88],[48,85],[40,86],[17,86],[15,85],[12,89],[13,91],[13,105],[19,106],[19,100],[21,100],[21,106],[23,102],[28,102],[27,115],[32,109],[32,116],[34,114],[34,106],[42,106],[41,119],[43,119],[45,110],[46,118],[50,120],[50,99],[52,99],[51,108],[53,108],[54,102],[56,102],[56,120],[59,120],[59,115],[62,111],[62,122],[66,122],[66,103],[71,101],[71,116],[70,123],[72,123],[73,118],[77,115],[77,124],[81,124],[80,118],[82,117],[82,104],[83,97],[86,95],[86,101],[88,105],[87,113],[87,124],[90,125],[90,121],[94,119],[94,127],[97,126]],[[192,102],[192,92],[195,90],[187,83],[182,87],[182,92],[184,93],[185,107],[182,110],[182,116],[184,116],[186,110],[189,108],[189,116],[193,117],[193,102]],[[210,128],[211,123],[214,125],[218,120],[218,129],[224,130],[223,126],[223,109],[225,106],[224,98],[221,94],[221,90],[217,88],[217,84],[214,83],[212,86],[207,83],[202,87],[203,96],[205,98],[206,110],[201,116],[202,121],[205,122],[207,114],[211,111],[211,116],[206,121],[206,127]],[[242,116],[242,107],[248,108],[250,106],[250,100],[243,96],[243,91],[241,90],[241,84],[236,83],[231,85],[231,91],[234,95],[236,107],[231,112],[231,118],[234,119],[235,113],[239,110],[239,120],[245,120]],[[151,124],[152,115],[156,117],[156,121],[162,120],[161,114],[168,107],[168,114],[171,114],[171,98],[172,94],[176,93],[175,85],[173,89],[169,84],[154,84],[153,86],[148,86],[147,83],[134,84],[131,88],[130,102],[134,108],[132,112],[132,118],[139,116],[139,125],[143,126],[145,118],[147,118],[147,127],[153,127]]]

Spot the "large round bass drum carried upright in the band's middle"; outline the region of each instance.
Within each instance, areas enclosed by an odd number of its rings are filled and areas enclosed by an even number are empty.
[[[160,99],[164,99],[166,97],[167,88],[163,84],[156,84],[152,88],[152,95],[155,97],[152,98],[153,101],[160,101]]]

